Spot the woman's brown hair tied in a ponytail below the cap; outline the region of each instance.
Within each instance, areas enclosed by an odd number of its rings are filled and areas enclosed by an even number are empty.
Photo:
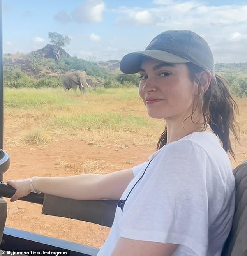
[[[201,85],[196,78],[196,74],[204,69],[191,62],[186,63],[189,69],[189,76],[191,81],[196,81],[199,91],[202,91]],[[199,99],[199,95],[198,95]],[[192,111],[192,115],[195,109]],[[230,130],[235,137],[235,142],[240,142],[240,131],[238,124],[235,120],[238,114],[238,106],[229,92],[228,83],[224,78],[218,75],[212,76],[208,90],[203,94],[202,112],[204,117],[205,131],[208,125],[213,132],[219,137],[222,142],[222,146],[226,152],[229,152],[233,159],[235,154],[231,147],[231,141],[229,138]],[[193,121],[193,120],[192,120]],[[167,143],[167,126],[165,126],[164,132],[162,132],[159,141],[157,143],[157,150],[163,147]]]

